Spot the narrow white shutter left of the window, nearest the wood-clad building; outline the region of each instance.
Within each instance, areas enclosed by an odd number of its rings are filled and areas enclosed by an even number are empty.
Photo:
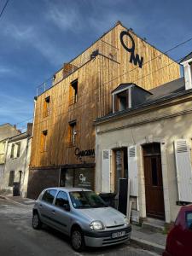
[[[111,150],[102,150],[102,192],[110,192]]]

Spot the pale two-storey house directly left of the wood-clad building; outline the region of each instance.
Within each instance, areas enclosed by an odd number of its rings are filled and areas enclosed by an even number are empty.
[[[3,172],[3,190],[13,191],[14,183],[20,183],[19,194],[26,197],[31,156],[32,124],[26,132],[10,137]]]

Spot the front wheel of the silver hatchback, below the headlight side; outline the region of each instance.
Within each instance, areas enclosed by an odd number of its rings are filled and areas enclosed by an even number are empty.
[[[74,228],[71,234],[71,244],[76,252],[84,250],[84,234],[80,228]]]

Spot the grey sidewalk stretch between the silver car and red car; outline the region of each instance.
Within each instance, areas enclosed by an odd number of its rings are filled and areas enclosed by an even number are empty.
[[[160,255],[162,255],[166,248],[166,235],[134,224],[131,226],[131,241],[133,243],[139,247],[143,247],[144,249],[148,249],[149,251],[154,251],[155,253],[160,253]]]

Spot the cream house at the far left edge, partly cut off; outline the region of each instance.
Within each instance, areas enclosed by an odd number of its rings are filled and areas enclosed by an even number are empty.
[[[3,186],[3,170],[9,137],[20,134],[15,125],[0,125],[0,189]]]

